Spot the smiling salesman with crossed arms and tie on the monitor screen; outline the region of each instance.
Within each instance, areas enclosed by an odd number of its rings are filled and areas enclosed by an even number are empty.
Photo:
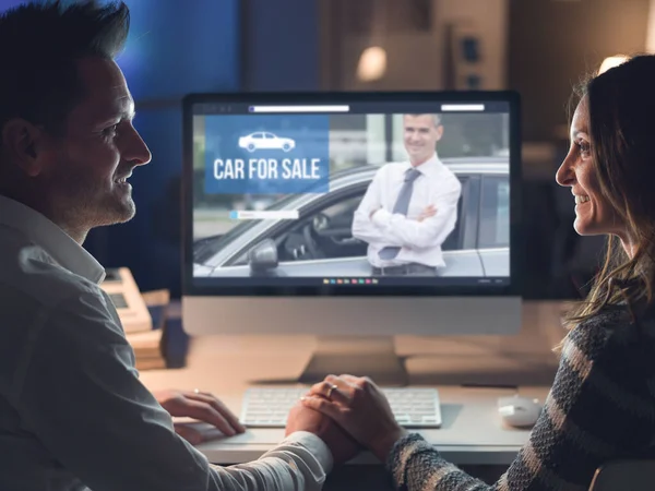
[[[460,180],[437,156],[438,115],[404,115],[408,163],[376,173],[355,212],[353,237],[368,242],[374,276],[434,276],[457,220]]]

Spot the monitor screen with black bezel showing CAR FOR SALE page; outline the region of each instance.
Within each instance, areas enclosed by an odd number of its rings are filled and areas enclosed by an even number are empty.
[[[513,93],[184,100],[186,292],[515,291]]]

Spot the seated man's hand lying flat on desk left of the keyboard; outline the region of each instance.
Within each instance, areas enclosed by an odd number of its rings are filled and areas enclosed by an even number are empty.
[[[227,436],[246,431],[225,404],[210,393],[168,390],[154,392],[153,395],[170,416],[189,417],[210,423]],[[189,424],[176,423],[175,431],[192,445],[203,441],[203,433]]]

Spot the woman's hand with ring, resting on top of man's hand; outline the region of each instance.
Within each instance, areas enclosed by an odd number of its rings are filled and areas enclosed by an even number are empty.
[[[382,391],[368,378],[329,375],[302,404],[334,419],[361,445],[385,462],[406,431],[396,422]]]

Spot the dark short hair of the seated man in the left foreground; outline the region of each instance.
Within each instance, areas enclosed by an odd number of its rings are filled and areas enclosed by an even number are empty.
[[[0,130],[13,118],[61,135],[84,98],[76,62],[114,59],[124,47],[130,11],[124,2],[33,1],[0,15]]]

